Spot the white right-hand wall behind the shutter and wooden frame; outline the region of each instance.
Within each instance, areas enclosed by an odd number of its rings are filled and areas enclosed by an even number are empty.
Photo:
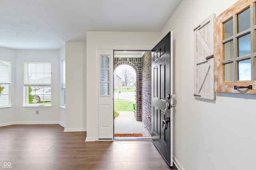
[[[217,93],[216,101],[195,99],[194,32],[212,13],[237,0],[182,0],[161,31],[174,40],[174,156],[185,170],[256,167],[256,95]]]

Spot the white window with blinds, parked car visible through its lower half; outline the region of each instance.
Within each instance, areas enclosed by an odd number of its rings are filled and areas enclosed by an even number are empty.
[[[51,62],[24,61],[24,106],[51,106]]]

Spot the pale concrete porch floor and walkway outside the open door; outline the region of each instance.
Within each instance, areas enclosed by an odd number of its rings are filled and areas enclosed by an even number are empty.
[[[151,133],[146,129],[142,121],[136,121],[132,111],[118,111],[119,116],[114,119],[114,134],[116,133],[142,133],[143,137],[151,139]],[[124,137],[115,137],[115,139],[123,139]],[[126,139],[131,137],[126,137]]]

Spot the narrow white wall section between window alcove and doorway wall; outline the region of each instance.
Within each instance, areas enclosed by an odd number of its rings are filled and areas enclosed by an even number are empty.
[[[66,42],[66,108],[64,131],[86,131],[86,42]],[[91,71],[90,71],[91,72]],[[84,96],[83,96],[84,95]]]

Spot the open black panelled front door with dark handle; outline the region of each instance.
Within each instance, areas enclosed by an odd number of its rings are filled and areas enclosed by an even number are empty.
[[[171,32],[152,49],[152,141],[172,161]]]

